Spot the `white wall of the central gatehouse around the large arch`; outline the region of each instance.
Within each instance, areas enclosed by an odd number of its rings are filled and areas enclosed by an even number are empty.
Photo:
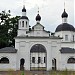
[[[22,38],[22,39],[15,39],[16,46],[15,48],[18,49],[17,52],[17,69],[20,67],[20,59],[24,58],[25,59],[25,69],[30,70],[30,49],[33,45],[35,44],[42,44],[47,51],[47,70],[52,69],[52,42],[55,42],[55,48],[56,52],[54,53],[53,56],[56,57],[57,60],[59,57],[59,49],[60,49],[60,39],[46,39],[46,38]],[[58,44],[58,45],[57,45]],[[57,63],[58,64],[58,63]]]

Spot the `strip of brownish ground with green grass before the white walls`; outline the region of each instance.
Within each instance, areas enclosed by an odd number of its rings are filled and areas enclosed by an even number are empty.
[[[23,74],[24,73],[24,74]],[[0,71],[0,75],[75,75],[74,71]]]

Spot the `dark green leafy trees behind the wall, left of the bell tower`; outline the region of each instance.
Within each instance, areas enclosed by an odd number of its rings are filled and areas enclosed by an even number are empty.
[[[0,48],[14,46],[14,37],[17,36],[19,18],[20,16],[11,17],[10,10],[0,13]]]

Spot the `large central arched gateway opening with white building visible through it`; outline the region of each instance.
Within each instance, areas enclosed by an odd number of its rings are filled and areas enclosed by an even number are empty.
[[[46,70],[47,52],[42,44],[35,44],[30,50],[30,70]]]

